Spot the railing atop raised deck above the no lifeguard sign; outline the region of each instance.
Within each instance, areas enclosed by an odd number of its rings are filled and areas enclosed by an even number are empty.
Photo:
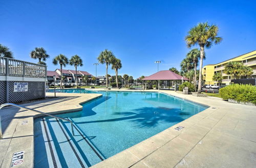
[[[0,57],[0,75],[46,78],[46,66]]]

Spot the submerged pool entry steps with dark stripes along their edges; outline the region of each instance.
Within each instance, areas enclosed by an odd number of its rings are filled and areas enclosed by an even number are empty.
[[[104,160],[101,153],[90,142],[90,137],[84,135],[77,126],[74,125],[73,136],[71,124],[68,122],[55,118],[42,118],[41,126],[44,124],[45,126],[41,128],[50,167],[90,167]],[[55,154],[54,158],[53,154]],[[61,166],[54,164],[54,160]]]

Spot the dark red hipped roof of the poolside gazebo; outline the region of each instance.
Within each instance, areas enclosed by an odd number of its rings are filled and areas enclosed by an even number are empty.
[[[188,78],[182,77],[181,75],[178,75],[172,71],[164,70],[147,76],[142,80],[188,80]]]

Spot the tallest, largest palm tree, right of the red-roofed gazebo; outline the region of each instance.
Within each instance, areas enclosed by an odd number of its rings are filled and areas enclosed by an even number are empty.
[[[209,25],[207,22],[198,23],[195,27],[191,28],[188,35],[185,37],[187,47],[190,48],[198,44],[200,46],[200,69],[198,81],[198,93],[201,93],[202,85],[202,66],[204,58],[204,47],[210,48],[213,43],[219,44],[222,37],[218,37],[219,28],[217,25]]]

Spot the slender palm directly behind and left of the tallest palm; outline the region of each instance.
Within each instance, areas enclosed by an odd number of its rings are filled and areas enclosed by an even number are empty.
[[[194,65],[194,73],[195,73],[194,74],[194,85],[197,86],[197,65],[198,65],[198,60],[200,59],[200,50],[197,48],[190,50],[187,53],[187,58]],[[205,59],[205,56],[204,56],[204,59]]]

